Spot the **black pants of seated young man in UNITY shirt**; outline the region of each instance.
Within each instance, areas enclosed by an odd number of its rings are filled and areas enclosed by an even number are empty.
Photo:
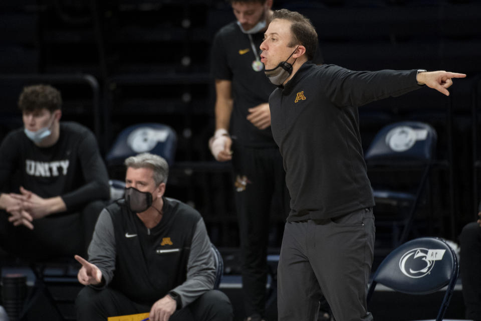
[[[34,229],[14,226],[10,214],[0,211],[0,247],[8,253],[34,260],[53,257],[86,257],[95,223],[105,201],[89,203],[82,211],[60,213],[34,220]]]

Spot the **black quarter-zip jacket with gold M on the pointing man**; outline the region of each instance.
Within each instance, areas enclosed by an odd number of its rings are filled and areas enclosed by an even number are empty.
[[[421,88],[417,70],[351,71],[304,63],[271,94],[271,126],[291,196],[288,221],[374,206],[358,106]]]

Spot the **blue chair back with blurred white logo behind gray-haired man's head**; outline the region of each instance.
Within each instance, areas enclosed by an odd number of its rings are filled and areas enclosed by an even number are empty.
[[[171,127],[141,123],[122,130],[105,158],[108,165],[121,165],[129,156],[150,152],[162,156],[171,166],[176,148],[177,134]]]

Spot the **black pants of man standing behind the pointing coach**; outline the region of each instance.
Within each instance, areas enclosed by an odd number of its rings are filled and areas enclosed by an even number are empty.
[[[232,147],[244,309],[264,316],[270,214],[288,216],[289,192],[278,148]]]

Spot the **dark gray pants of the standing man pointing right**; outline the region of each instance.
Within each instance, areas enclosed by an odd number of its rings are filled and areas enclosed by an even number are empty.
[[[372,208],[287,222],[278,267],[279,320],[317,320],[325,296],[336,321],[367,321],[366,294],[374,250]]]

